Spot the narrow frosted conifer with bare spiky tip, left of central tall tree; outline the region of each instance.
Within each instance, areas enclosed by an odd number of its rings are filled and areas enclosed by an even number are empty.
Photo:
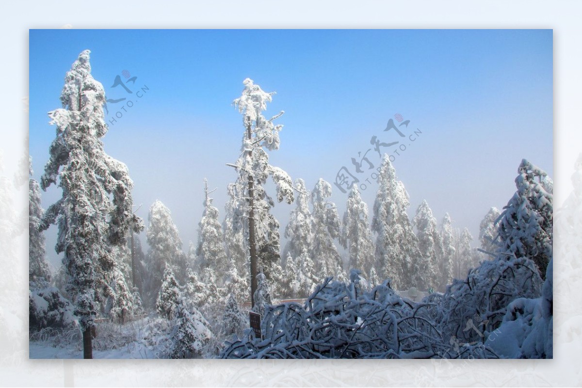
[[[223,275],[226,274],[229,265],[224,247],[224,235],[218,221],[218,209],[212,206],[212,198],[208,196],[210,193],[208,181],[204,179],[204,211],[198,223],[197,267],[201,271],[212,268],[215,274],[219,274],[219,285],[222,285]]]

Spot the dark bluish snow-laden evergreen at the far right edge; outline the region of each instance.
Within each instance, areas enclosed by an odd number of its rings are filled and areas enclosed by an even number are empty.
[[[545,278],[553,255],[553,184],[548,174],[526,159],[517,169],[516,193],[499,216],[501,252],[530,257]]]

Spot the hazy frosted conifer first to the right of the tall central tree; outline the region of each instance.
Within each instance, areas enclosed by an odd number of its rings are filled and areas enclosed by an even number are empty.
[[[297,196],[296,208],[289,214],[289,222],[285,227],[287,243],[283,256],[290,254],[299,257],[304,250],[313,245],[313,216],[309,210],[310,195],[303,179],[295,179]]]

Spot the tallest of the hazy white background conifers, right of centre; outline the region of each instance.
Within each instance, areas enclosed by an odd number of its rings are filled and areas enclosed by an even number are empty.
[[[376,270],[382,278],[390,278],[392,287],[415,286],[420,273],[418,239],[406,213],[409,196],[387,154],[378,173],[378,191],[374,202],[372,231],[377,233]]]

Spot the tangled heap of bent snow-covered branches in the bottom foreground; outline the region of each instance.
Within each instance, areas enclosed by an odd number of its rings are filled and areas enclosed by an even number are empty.
[[[484,346],[453,352],[428,319],[430,304],[403,300],[386,283],[362,292],[354,272],[347,284],[326,279],[304,306],[269,306],[261,323],[264,340],[244,336],[227,343],[221,357],[495,357]]]

